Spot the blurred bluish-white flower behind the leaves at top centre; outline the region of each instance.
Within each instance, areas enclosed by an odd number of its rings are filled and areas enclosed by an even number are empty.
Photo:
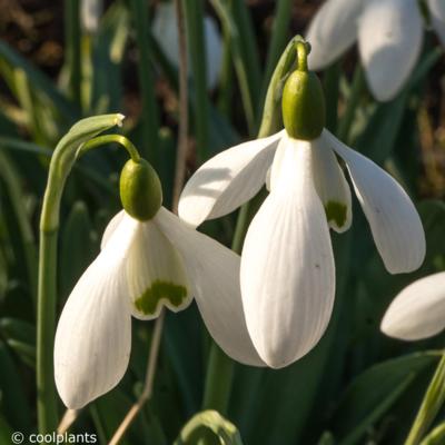
[[[170,63],[178,67],[178,26],[172,1],[158,3],[152,21],[152,33]],[[216,22],[211,17],[204,18],[204,36],[206,40],[207,87],[214,89],[218,83],[222,65],[222,42]],[[190,76],[190,63],[188,63],[188,71]]]

